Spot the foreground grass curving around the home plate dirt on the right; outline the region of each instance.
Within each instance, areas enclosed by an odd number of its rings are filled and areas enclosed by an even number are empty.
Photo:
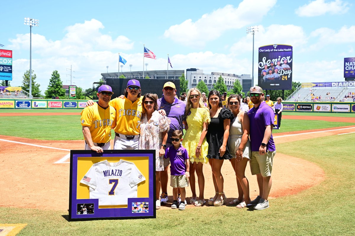
[[[28,224],[18,235],[355,235],[355,134],[277,145],[277,152],[311,161],[325,172],[320,184],[270,200],[263,211],[235,207],[158,210],[157,219],[68,222],[67,211],[0,207],[3,224]],[[312,147],[312,148],[310,148]],[[275,157],[277,161],[277,155]],[[287,168],[287,167],[285,167]],[[247,168],[249,171],[249,168]],[[302,174],[302,173],[300,173]],[[226,181],[226,179],[225,179]],[[235,179],[233,179],[235,181]],[[256,181],[256,179],[249,179]],[[290,179],[290,181],[292,181]]]

